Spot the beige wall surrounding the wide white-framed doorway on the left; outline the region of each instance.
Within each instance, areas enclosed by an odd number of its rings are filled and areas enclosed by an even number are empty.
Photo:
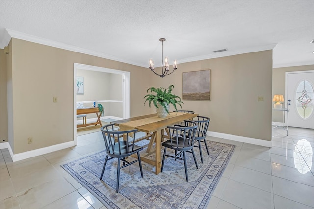
[[[14,112],[8,117],[14,127],[14,144],[10,144],[14,154],[73,140],[73,63],[129,71],[131,89],[137,92],[148,86],[145,80],[137,86],[135,80],[149,76],[149,72],[130,64],[15,38],[11,52]],[[58,103],[53,103],[54,96]],[[137,94],[131,94],[131,103],[139,99]],[[139,114],[131,107],[131,114],[134,112]],[[28,137],[33,137],[34,143],[27,144]]]

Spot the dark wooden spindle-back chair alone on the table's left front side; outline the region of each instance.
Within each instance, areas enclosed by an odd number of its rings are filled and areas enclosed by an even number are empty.
[[[105,171],[105,167],[107,161],[110,159],[117,158],[118,166],[117,166],[117,185],[116,192],[119,192],[119,180],[120,180],[120,168],[124,168],[129,166],[135,162],[139,163],[139,169],[141,171],[141,175],[143,177],[142,163],[139,152],[143,150],[143,147],[137,146],[134,144],[136,137],[137,129],[128,130],[128,131],[118,131],[114,124],[108,124],[101,128],[101,132],[103,134],[103,138],[105,141],[106,153],[107,156],[105,158],[102,174],[100,175],[100,179],[102,180],[103,174]],[[129,157],[133,154],[137,154],[137,159],[131,162],[126,160],[126,157]],[[108,158],[110,157],[110,158]],[[120,167],[120,161],[123,162],[123,166]]]

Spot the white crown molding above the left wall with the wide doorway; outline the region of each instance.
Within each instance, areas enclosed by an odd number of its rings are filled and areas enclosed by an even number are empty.
[[[141,64],[133,62],[131,60],[122,60],[122,59],[119,59],[117,57],[114,57],[114,56],[111,56],[111,55],[108,55],[108,54],[95,52],[95,51],[92,51],[92,50],[86,50],[86,49],[83,49],[83,48],[80,48],[80,47],[76,47],[76,46],[73,46],[73,45],[64,44],[64,43],[60,43],[60,42],[57,42],[57,41],[52,41],[52,40],[49,40],[49,39],[45,39],[45,38],[41,38],[41,37],[38,37],[38,36],[29,35],[29,34],[18,32],[18,31],[11,30],[11,29],[5,29],[5,30],[6,30],[6,32],[9,35],[9,41],[8,42],[5,41],[3,43],[3,48],[8,45],[8,43],[11,40],[11,38],[17,38],[17,39],[22,39],[22,40],[25,40],[25,41],[30,41],[30,42],[34,42],[34,43],[38,43],[38,44],[43,44],[43,45],[46,45],[46,46],[51,46],[51,47],[56,47],[56,48],[60,48],[60,49],[64,49],[64,50],[69,50],[69,51],[72,51],[72,52],[84,53],[84,54],[97,56],[97,57],[101,57],[101,58],[105,58],[105,59],[110,59],[110,60],[114,60],[114,61],[118,61],[118,62],[128,63],[128,64],[131,64],[131,65],[141,66]],[[7,42],[7,44],[5,44],[6,42]],[[1,47],[2,47],[2,45],[1,45]]]

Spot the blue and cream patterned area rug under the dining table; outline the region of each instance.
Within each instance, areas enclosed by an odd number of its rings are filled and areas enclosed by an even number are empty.
[[[154,166],[143,161],[143,178],[138,163],[122,168],[119,193],[116,193],[116,159],[107,162],[103,179],[102,181],[99,179],[106,157],[105,151],[69,162],[61,167],[107,208],[202,209],[206,208],[235,149],[235,145],[207,142],[209,155],[206,153],[205,146],[202,146],[204,148],[202,150],[204,164],[201,163],[198,148],[194,149],[198,169],[196,169],[192,154],[187,153],[186,155],[188,182],[185,179],[183,161],[170,157],[166,158],[163,172],[158,175],[155,174]]]

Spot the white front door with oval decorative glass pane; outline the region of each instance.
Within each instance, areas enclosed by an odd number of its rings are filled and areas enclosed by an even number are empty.
[[[286,84],[289,126],[314,129],[314,71],[286,72]]]

